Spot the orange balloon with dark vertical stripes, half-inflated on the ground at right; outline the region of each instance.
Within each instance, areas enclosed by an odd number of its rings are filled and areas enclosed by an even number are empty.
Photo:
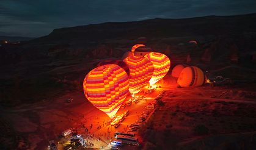
[[[180,87],[200,86],[205,83],[205,74],[196,66],[187,66],[181,71],[177,82]]]

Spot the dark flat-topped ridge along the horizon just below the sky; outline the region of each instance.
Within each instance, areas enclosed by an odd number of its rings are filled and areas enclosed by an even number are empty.
[[[134,39],[225,35],[256,32],[256,14],[238,16],[205,16],[188,19],[153,19],[125,23],[90,24],[54,29],[33,43],[92,43],[109,39]]]

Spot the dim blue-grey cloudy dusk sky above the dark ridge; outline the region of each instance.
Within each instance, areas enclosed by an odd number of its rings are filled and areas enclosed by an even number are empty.
[[[40,37],[56,28],[109,21],[255,12],[255,0],[0,0],[0,35]]]

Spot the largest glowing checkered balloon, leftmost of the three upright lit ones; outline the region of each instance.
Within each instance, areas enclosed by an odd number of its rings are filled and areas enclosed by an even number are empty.
[[[109,117],[115,115],[128,94],[129,79],[120,66],[98,66],[84,78],[84,95]]]

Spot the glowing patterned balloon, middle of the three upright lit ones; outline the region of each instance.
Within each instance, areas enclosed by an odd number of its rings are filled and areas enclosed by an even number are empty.
[[[130,70],[129,91],[133,94],[141,91],[141,88],[148,84],[151,79],[154,68],[152,62],[141,56],[129,56],[123,60]]]

